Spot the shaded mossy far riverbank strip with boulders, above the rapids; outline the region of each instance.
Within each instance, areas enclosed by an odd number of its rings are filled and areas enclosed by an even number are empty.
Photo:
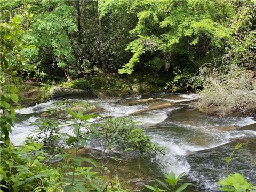
[[[36,83],[27,81],[14,84],[14,86],[19,89],[20,105],[28,107],[66,95],[92,94],[96,98],[117,98],[163,92],[168,79],[167,76],[149,73],[134,73],[132,75],[101,73],[74,79],[70,82]]]

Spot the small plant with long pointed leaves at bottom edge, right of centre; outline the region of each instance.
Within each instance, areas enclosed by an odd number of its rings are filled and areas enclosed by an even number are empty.
[[[155,191],[155,192],[162,192],[162,191],[175,191],[175,192],[181,192],[187,188],[187,186],[191,185],[191,183],[183,183],[181,186],[177,186],[178,181],[182,178],[184,175],[184,172],[179,174],[178,177],[176,178],[175,174],[171,171],[169,174],[164,174],[165,176],[165,181],[171,186],[165,185],[164,182],[157,180],[157,185],[154,187],[149,186],[149,185],[144,185],[146,188],[150,189],[150,191]],[[159,188],[159,184],[161,187],[164,189]]]

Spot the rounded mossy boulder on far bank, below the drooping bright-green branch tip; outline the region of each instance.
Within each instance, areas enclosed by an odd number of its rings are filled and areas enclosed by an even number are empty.
[[[161,91],[161,89],[152,83],[141,82],[141,83],[136,83],[132,85],[132,91],[135,94],[140,94],[140,93],[159,92]]]

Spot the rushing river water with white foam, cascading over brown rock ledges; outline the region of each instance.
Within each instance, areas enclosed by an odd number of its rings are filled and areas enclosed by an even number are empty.
[[[149,96],[154,98],[153,102],[138,102],[136,105],[131,105],[131,103],[134,104],[134,102]],[[196,94],[156,94],[149,96],[126,98],[122,102],[118,99],[68,99],[97,103],[98,107],[105,109],[102,115],[110,114],[115,117],[132,115],[135,120],[141,122],[140,126],[154,138],[154,142],[167,148],[165,156],[158,155],[148,159],[147,164],[156,167],[153,171],[154,176],[170,171],[174,171],[176,174],[186,172],[186,181],[195,183],[194,186],[196,186],[195,190],[197,191],[217,190],[216,181],[225,177],[225,159],[230,155],[236,143],[244,143],[245,153],[251,157],[256,157],[255,118],[227,117],[219,119],[206,116],[189,107],[189,104],[197,99],[198,95]],[[14,145],[22,143],[30,131],[35,129],[32,124],[39,118],[39,114],[46,111],[54,102],[49,101],[17,111],[17,122],[11,135]],[[171,105],[166,105],[166,103]],[[166,107],[157,109],[156,106],[160,105]],[[147,110],[152,106],[154,110]],[[140,113],[136,113],[138,111]],[[67,129],[63,129],[63,131],[67,131]],[[93,146],[97,148],[95,143]],[[100,148],[98,147],[98,149]],[[124,163],[126,178],[137,177],[135,172],[138,169],[134,168],[137,167],[135,166],[137,161],[138,159],[130,159]],[[145,167],[145,170],[149,167]],[[150,171],[145,172],[147,175],[152,174]],[[250,182],[256,185],[256,165],[251,162],[237,159],[231,162],[230,172],[243,173]]]

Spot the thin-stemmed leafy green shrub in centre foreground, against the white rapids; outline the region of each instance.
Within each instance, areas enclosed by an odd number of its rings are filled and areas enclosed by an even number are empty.
[[[146,153],[165,153],[165,148],[160,147],[151,141],[151,137],[146,135],[137,125],[139,122],[134,122],[132,118],[126,117],[106,117],[101,126],[99,127],[99,138],[103,139],[103,152],[101,165],[101,174],[106,171],[109,159],[112,158],[118,162],[115,170],[111,173],[110,178],[113,178],[119,165],[123,161],[125,155],[131,151],[137,151],[139,155]],[[119,157],[108,157],[106,159],[106,150],[120,151]],[[140,165],[139,165],[140,167]]]

